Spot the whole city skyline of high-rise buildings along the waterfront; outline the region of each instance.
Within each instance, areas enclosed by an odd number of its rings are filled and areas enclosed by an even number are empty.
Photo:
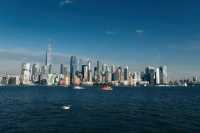
[[[167,66],[148,66],[145,71],[131,72],[128,66],[105,64],[97,60],[81,61],[76,56],[70,57],[69,69],[60,64],[60,71],[54,71],[52,64],[52,48],[48,45],[43,64],[22,63],[21,73],[18,76],[6,74],[1,77],[3,85],[61,85],[61,86],[166,86],[177,85],[177,81],[168,81]],[[197,83],[198,78],[185,83]],[[180,81],[182,84],[182,81]],[[180,85],[179,84],[179,85]]]

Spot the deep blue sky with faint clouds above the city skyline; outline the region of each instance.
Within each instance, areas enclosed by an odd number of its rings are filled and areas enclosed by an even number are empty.
[[[70,55],[128,65],[167,65],[169,77],[200,76],[198,0],[0,0],[0,73]],[[67,59],[66,59],[67,58]]]

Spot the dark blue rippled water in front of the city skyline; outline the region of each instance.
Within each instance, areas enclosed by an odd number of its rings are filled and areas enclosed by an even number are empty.
[[[1,87],[0,133],[38,132],[200,132],[200,88]]]

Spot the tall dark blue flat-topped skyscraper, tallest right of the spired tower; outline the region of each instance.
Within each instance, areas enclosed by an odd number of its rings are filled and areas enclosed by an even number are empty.
[[[76,56],[71,56],[70,58],[70,84],[73,84],[76,77],[76,72],[78,67],[78,60]]]

